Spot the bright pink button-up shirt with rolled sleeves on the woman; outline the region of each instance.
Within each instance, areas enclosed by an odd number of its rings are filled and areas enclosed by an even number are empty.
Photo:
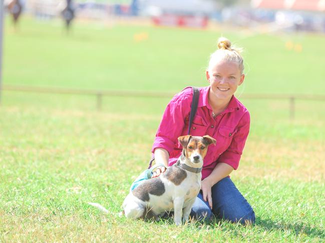
[[[235,170],[249,132],[250,116],[248,110],[232,96],[227,108],[217,117],[212,117],[212,108],[208,101],[210,86],[199,88],[200,97],[193,119],[190,135],[209,135],[216,139],[216,145],[208,147],[203,161],[202,180],[208,177],[218,162],[226,163]],[[179,136],[187,135],[189,114],[193,91],[185,88],[169,102],[163,114],[152,146],[166,149],[169,153],[168,166],[176,163],[181,155],[182,146]]]

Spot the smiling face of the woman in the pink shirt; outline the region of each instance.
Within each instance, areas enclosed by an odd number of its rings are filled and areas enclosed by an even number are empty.
[[[210,83],[210,93],[218,99],[227,100],[242,84],[245,75],[241,74],[238,63],[217,60],[206,71],[206,78]]]

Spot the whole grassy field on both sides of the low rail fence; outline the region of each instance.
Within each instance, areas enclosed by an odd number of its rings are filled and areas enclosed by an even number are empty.
[[[223,34],[246,50],[238,96],[325,93],[323,35],[76,23],[66,36],[61,21],[22,20],[17,32],[6,22],[4,84],[177,92],[206,85],[208,55]],[[146,168],[168,100],[106,97],[98,112],[94,97],[4,91],[0,242],[325,241],[325,104],[319,101],[298,101],[292,121],[288,101],[242,99],[251,131],[231,178],[255,211],[253,227],[219,220],[175,227],[171,220],[116,216]]]

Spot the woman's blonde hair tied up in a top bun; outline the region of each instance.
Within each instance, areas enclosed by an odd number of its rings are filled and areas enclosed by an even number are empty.
[[[215,59],[226,60],[238,63],[240,73],[242,74],[244,71],[244,60],[240,52],[242,52],[242,48],[231,46],[230,40],[220,37],[218,39],[218,49],[210,55],[208,70]]]

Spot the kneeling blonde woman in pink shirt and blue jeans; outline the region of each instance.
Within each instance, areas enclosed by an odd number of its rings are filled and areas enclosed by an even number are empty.
[[[237,190],[229,174],[238,168],[249,132],[248,110],[235,98],[237,87],[244,81],[244,65],[240,50],[231,47],[226,38],[218,40],[218,50],[211,54],[206,78],[209,86],[199,88],[200,98],[190,135],[210,135],[217,141],[204,158],[201,191],[191,216],[208,220],[217,218],[252,224],[255,214]],[[176,163],[182,147],[177,138],[187,135],[192,89],[176,94],[167,105],[152,147],[155,163],[171,166]],[[165,171],[158,167],[157,177]]]

